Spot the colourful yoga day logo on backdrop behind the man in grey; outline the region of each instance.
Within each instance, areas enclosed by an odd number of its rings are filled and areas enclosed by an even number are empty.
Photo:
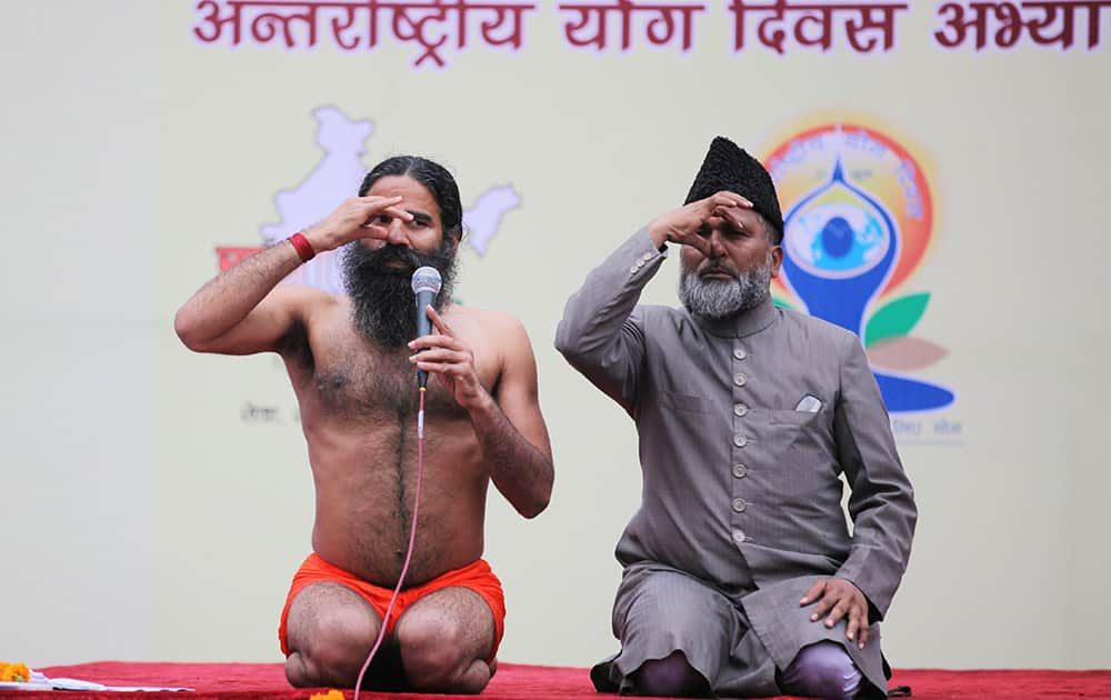
[[[952,404],[950,389],[914,377],[948,354],[912,334],[930,292],[909,282],[934,234],[922,159],[858,120],[798,130],[762,160],[784,212],[777,303],[859,336],[889,411]]]

